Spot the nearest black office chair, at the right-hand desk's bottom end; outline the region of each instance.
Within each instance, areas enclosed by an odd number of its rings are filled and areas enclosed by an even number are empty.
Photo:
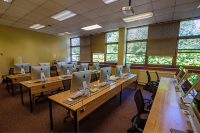
[[[142,114],[149,114],[149,110],[144,109],[145,104],[142,92],[140,89],[136,90],[134,93],[134,100],[137,106],[138,113],[132,118],[131,122],[133,124],[132,128],[129,128],[127,132],[143,132],[147,119],[142,119]]]

